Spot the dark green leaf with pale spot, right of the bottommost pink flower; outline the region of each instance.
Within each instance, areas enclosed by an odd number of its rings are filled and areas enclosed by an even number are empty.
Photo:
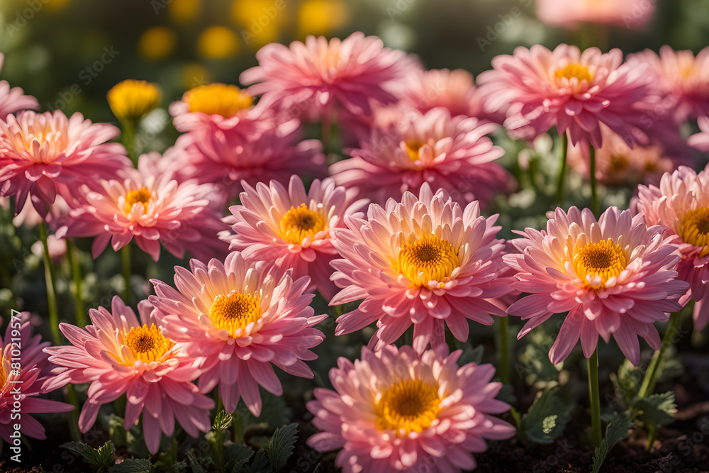
[[[552,443],[569,422],[573,404],[557,396],[558,386],[547,389],[532,404],[520,422],[520,435],[532,443]]]

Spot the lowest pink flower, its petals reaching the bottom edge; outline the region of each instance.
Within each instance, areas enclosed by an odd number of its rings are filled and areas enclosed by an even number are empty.
[[[335,391],[316,388],[308,410],[322,433],[308,439],[321,452],[342,448],[335,465],[345,473],[454,473],[476,468],[473,453],[515,428],[491,414],[510,409],[495,396],[492,365],[458,367],[461,351],[441,345],[418,355],[411,347],[362,347],[330,369]]]

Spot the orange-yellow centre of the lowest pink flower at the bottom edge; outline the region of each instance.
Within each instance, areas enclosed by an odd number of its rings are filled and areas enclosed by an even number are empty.
[[[435,420],[441,399],[437,386],[421,379],[402,381],[381,393],[376,402],[376,427],[396,435],[421,432]]]

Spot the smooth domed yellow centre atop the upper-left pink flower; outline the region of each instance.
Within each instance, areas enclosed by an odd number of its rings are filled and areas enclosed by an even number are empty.
[[[202,112],[207,115],[221,115],[224,118],[231,118],[254,103],[249,94],[235,85],[227,84],[195,87],[186,91],[182,100],[189,106],[191,113]]]

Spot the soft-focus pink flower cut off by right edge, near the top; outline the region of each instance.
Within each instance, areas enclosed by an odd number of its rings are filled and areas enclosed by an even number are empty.
[[[661,96],[668,97],[666,103],[674,104],[674,117],[679,123],[709,115],[709,48],[695,57],[689,50],[675,51],[664,45],[659,55],[644,50],[628,56],[627,62],[649,67],[652,85]]]

